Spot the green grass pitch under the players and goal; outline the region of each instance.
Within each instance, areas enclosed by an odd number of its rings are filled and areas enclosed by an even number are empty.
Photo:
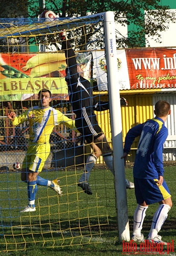
[[[41,177],[50,180],[60,177],[63,195],[58,197],[52,189],[38,186],[36,212],[30,214],[20,213],[27,204],[26,183],[20,181],[20,173],[0,173],[0,256],[122,255],[113,175],[96,166],[89,180],[93,195],[87,195],[76,186],[81,172],[81,167],[76,172],[71,168],[42,172]],[[176,243],[176,167],[166,166],[164,175],[173,208],[159,234],[164,241]],[[133,180],[131,168],[126,169],[126,177]],[[127,189],[127,201],[131,234],[136,209],[134,189]],[[158,204],[153,204],[147,209],[144,236],[150,230],[157,207]],[[176,255],[175,252],[169,255]]]

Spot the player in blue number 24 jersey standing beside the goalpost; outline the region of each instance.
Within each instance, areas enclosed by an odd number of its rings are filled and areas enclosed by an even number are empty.
[[[144,241],[144,235],[141,233],[141,230],[145,212],[148,205],[158,202],[159,207],[153,216],[147,240],[160,243],[163,241],[158,232],[172,207],[170,191],[163,178],[162,156],[163,144],[168,136],[168,130],[164,122],[167,116],[170,115],[170,104],[159,100],[155,104],[154,113],[156,115],[155,118],[136,125],[127,132],[124,143],[124,155],[121,158],[126,160],[134,139],[140,136],[133,166],[135,195],[138,206],[134,212],[132,239],[138,242]]]

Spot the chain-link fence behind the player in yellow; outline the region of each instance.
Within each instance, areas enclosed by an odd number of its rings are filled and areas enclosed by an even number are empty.
[[[16,104],[17,106],[17,104]],[[56,105],[57,106],[57,105]],[[12,108],[13,109],[13,108]],[[16,109],[13,111],[16,116],[26,111],[27,107],[23,109]],[[69,104],[64,108],[57,108],[64,115],[68,116],[70,119],[75,119],[75,115],[69,112]],[[1,109],[2,110],[2,109]],[[0,116],[0,154],[17,154],[18,162],[23,162],[23,153],[21,151],[26,151],[29,144],[29,121],[24,121],[23,124],[14,127],[11,120],[6,116],[11,109],[9,107],[4,108],[5,116]],[[1,111],[2,114],[2,111]],[[61,151],[67,148],[73,148],[76,145],[81,144],[81,137],[78,139],[80,134],[75,133],[75,131],[70,130],[66,125],[56,125],[50,135],[50,145],[51,152]],[[25,152],[24,152],[25,153]],[[3,160],[0,160],[0,165],[4,165]]]

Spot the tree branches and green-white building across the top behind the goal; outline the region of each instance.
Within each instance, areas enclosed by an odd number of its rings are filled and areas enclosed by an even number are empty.
[[[130,25],[128,37],[116,31],[117,47],[145,47],[145,40],[150,46],[148,38],[154,35],[161,43],[160,32],[176,20],[175,13],[168,11],[169,6],[162,6],[160,0],[47,0],[45,9],[52,9],[61,18],[113,11],[116,23]],[[6,2],[5,10],[0,9],[0,17],[37,17],[42,11],[43,1],[14,0]]]

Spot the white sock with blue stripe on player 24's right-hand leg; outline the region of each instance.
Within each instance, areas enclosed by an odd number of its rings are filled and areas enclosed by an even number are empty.
[[[149,233],[149,238],[153,239],[158,235],[158,232],[161,230],[164,221],[167,219],[167,213],[170,210],[170,206],[168,204],[160,204],[158,209],[156,210],[152,225]]]

